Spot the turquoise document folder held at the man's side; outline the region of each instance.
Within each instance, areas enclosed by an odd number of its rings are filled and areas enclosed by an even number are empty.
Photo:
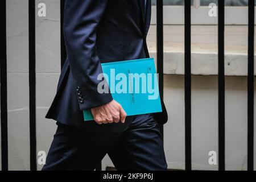
[[[109,92],[128,116],[162,112],[154,58],[101,65]],[[98,91],[99,88],[101,85],[98,86]],[[90,110],[84,110],[83,113],[85,121],[93,120]]]

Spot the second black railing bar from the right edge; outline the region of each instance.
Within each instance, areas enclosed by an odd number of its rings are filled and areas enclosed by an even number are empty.
[[[225,5],[218,1],[218,168],[225,170]]]

